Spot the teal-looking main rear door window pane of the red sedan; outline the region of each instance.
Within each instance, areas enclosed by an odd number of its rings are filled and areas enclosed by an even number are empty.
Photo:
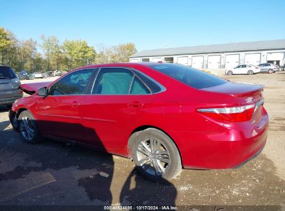
[[[101,68],[92,94],[129,94],[134,74],[125,68]]]

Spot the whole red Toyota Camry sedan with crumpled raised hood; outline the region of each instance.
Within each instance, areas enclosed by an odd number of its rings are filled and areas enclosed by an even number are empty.
[[[40,137],[132,158],[144,176],[239,167],[266,144],[263,86],[232,83],[168,63],[93,65],[51,84],[21,85],[12,125]]]

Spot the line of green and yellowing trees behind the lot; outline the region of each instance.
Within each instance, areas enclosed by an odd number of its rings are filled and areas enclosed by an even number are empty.
[[[85,40],[64,40],[55,36],[40,37],[36,40],[18,40],[15,34],[0,28],[0,63],[9,65],[15,71],[26,69],[36,71],[69,71],[85,65],[128,62],[129,56],[137,52],[132,42],[106,47],[90,46]]]

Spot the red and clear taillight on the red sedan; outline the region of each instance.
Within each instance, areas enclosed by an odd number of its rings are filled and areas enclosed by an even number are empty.
[[[223,121],[248,121],[252,118],[254,104],[226,108],[200,108],[198,112]]]

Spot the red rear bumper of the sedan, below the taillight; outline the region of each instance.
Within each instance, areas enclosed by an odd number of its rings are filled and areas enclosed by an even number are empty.
[[[240,123],[236,128],[209,134],[180,132],[182,164],[186,169],[232,169],[252,160],[266,144],[268,115],[256,127]]]

